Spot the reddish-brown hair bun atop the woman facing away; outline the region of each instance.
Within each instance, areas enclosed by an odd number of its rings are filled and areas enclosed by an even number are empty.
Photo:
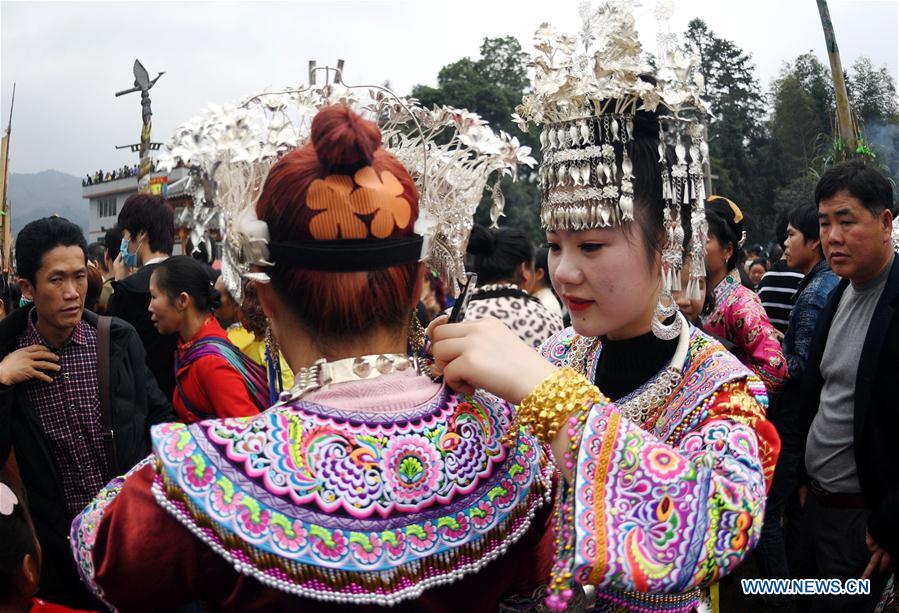
[[[381,130],[343,104],[329,106],[312,120],[312,146],[322,166],[365,166],[381,147]]]

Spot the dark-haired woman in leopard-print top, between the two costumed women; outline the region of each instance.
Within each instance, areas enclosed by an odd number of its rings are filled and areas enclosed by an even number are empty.
[[[471,295],[467,321],[495,317],[534,348],[562,329],[562,317],[522,289],[531,272],[534,247],[518,228],[476,225],[468,241],[478,287]]]

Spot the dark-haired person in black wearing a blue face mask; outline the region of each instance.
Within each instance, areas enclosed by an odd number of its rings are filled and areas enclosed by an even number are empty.
[[[175,391],[174,355],[177,334],[160,334],[150,321],[150,276],[170,255],[175,243],[172,207],[161,196],[134,194],[119,212],[122,232],[119,255],[113,262],[115,282],[106,312],[121,317],[137,330],[147,352],[147,367],[169,398]]]

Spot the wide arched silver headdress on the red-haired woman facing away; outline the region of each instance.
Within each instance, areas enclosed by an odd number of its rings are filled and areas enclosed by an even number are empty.
[[[335,78],[316,87],[315,72],[321,70]],[[228,291],[239,301],[242,278],[267,280],[264,273],[250,272],[254,265],[272,265],[268,228],[255,215],[262,183],[281,155],[309,139],[318,109],[336,103],[378,123],[384,148],[409,171],[420,193],[415,232],[424,237],[422,260],[457,288],[465,278],[465,248],[488,181],[495,178],[490,211],[495,223],[504,206],[499,179],[514,177],[519,164],[536,164],[530,148],[495,133],[466,110],[426,109],[383,87],[347,86],[342,62],[337,69],[310,63],[310,84],[263,92],[233,106],[210,105],[178,128],[160,157],[163,168],[191,168],[185,180],[192,182],[194,206],[211,204],[218,211]]]

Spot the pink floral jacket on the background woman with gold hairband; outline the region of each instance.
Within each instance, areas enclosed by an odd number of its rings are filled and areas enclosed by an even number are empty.
[[[768,320],[761,300],[740,284],[740,275],[732,270],[715,287],[715,309],[702,318],[709,334],[736,345],[734,354],[761,379],[769,391],[780,388],[787,378],[777,332]]]

